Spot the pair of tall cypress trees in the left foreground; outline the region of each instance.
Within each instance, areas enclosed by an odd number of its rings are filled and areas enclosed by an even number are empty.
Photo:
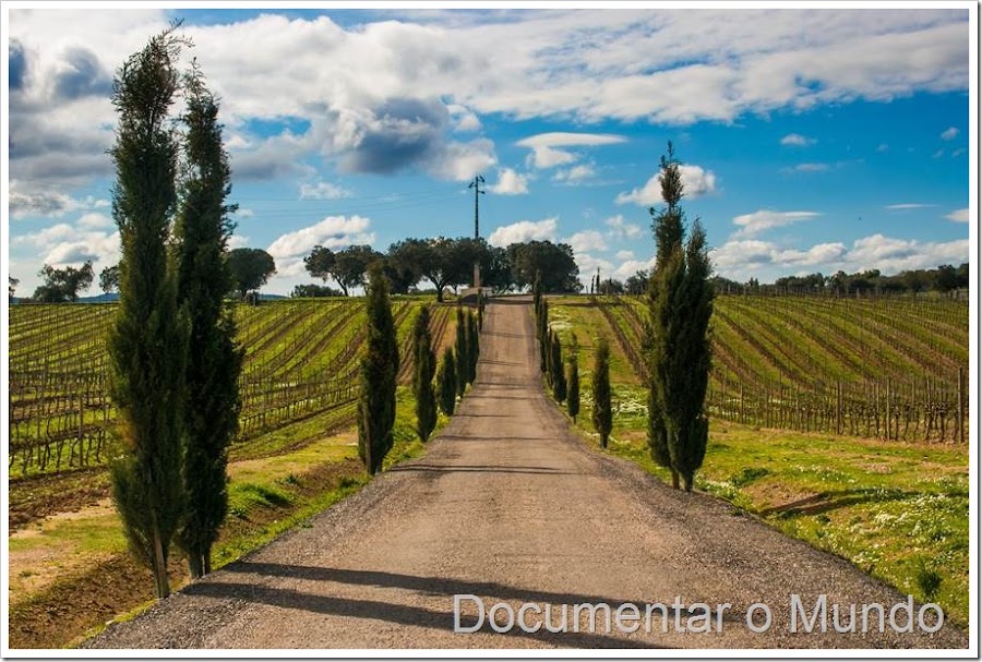
[[[178,71],[190,41],[176,28],[127,59],[111,97],[122,258],[108,347],[120,442],[110,477],[130,549],[152,569],[157,598],[170,592],[172,542],[192,577],[211,570],[228,506],[227,446],[242,364],[224,304],[233,207],[225,204],[230,169],[218,103],[196,63]],[[170,109],[179,94],[185,110],[176,127]]]

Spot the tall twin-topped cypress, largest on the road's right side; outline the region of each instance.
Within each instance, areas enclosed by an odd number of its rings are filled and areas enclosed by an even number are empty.
[[[692,490],[703,465],[709,422],[704,412],[711,360],[709,317],[712,285],[706,233],[698,220],[684,243],[685,215],[679,161],[672,144],[661,157],[661,196],[652,208],[655,273],[648,286],[649,420],[648,445],[656,462],[668,467],[672,485]]]

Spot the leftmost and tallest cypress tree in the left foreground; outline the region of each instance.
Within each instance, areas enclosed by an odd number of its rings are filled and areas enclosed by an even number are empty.
[[[119,311],[109,336],[116,435],[112,497],[130,549],[170,593],[167,557],[184,513],[181,476],[189,321],[179,314],[167,240],[177,207],[179,141],[168,111],[183,44],[173,28],[130,56],[112,83],[119,116],[112,216],[119,226]]]

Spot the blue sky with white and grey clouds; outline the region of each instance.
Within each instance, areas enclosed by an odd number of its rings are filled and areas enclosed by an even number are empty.
[[[969,260],[977,8],[8,9],[9,274],[119,258],[116,69],[172,19],[221,97],[235,246],[264,291],[315,244],[472,232],[573,245],[586,281],[651,263],[667,141],[716,273]],[[4,155],[7,157],[7,155]],[[89,293],[96,293],[94,286]]]

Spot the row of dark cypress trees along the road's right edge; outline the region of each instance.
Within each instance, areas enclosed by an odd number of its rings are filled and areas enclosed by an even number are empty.
[[[709,423],[704,411],[711,361],[708,337],[714,290],[706,232],[696,219],[685,240],[684,194],[680,161],[672,144],[661,157],[661,197],[666,207],[650,208],[656,242],[655,268],[648,281],[648,313],[643,352],[648,362],[648,448],[655,461],[669,469],[672,486],[692,491],[696,470],[703,465]],[[599,288],[599,275],[594,285]],[[578,368],[573,351],[571,376],[564,376],[562,345],[549,328],[549,303],[543,297],[541,274],[532,287],[539,369],[558,401],[576,400]],[[574,339],[575,341],[575,339]],[[575,373],[574,373],[575,370]],[[575,376],[575,380],[573,375]],[[570,397],[572,384],[576,396]],[[592,423],[607,447],[612,428],[610,346],[600,338],[592,373]],[[573,408],[571,416],[575,420]]]

